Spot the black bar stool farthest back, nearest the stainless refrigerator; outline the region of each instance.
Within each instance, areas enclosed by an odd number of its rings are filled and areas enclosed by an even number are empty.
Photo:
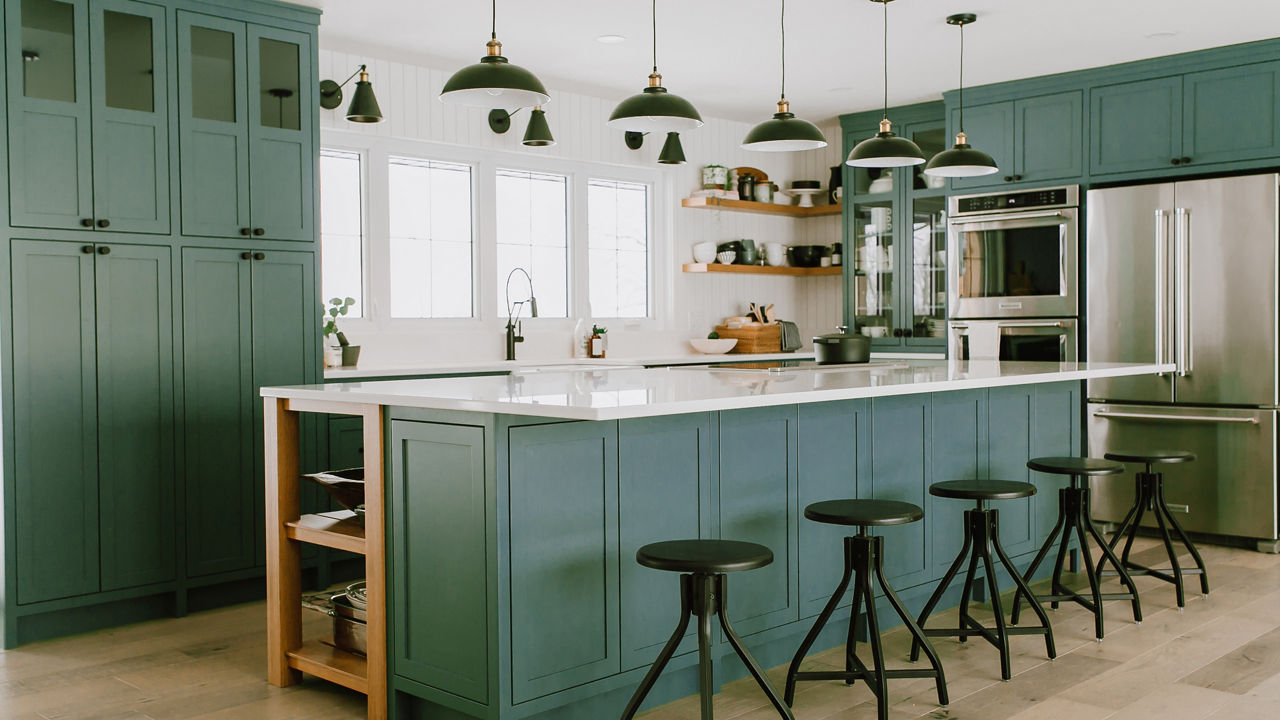
[[[1128,538],[1124,543],[1124,551],[1120,553],[1120,562],[1124,564],[1125,570],[1130,575],[1151,575],[1152,578],[1160,578],[1166,583],[1172,583],[1174,592],[1178,594],[1178,611],[1181,612],[1183,607],[1187,607],[1187,594],[1183,588],[1183,575],[1199,575],[1201,577],[1201,594],[1208,597],[1208,574],[1204,571],[1204,560],[1201,559],[1199,551],[1192,544],[1190,538],[1183,530],[1183,527],[1178,524],[1174,515],[1169,511],[1169,505],[1165,503],[1165,474],[1156,473],[1152,470],[1152,465],[1156,464],[1169,464],[1169,462],[1190,462],[1196,460],[1194,452],[1187,452],[1183,450],[1153,450],[1151,452],[1108,452],[1103,457],[1107,460],[1116,460],[1119,462],[1142,462],[1146,465],[1146,470],[1134,474],[1135,492],[1133,507],[1129,509],[1129,514],[1124,516],[1120,521],[1120,528],[1116,533],[1111,536],[1111,550],[1115,550],[1116,543],[1120,542],[1120,536],[1128,532]],[[1129,561],[1129,551],[1133,548],[1133,539],[1138,534],[1138,525],[1142,524],[1142,516],[1147,511],[1151,511],[1156,516],[1156,524],[1160,527],[1160,537],[1165,541],[1165,552],[1169,553],[1170,575],[1166,570],[1157,570],[1155,568],[1147,568],[1146,565],[1138,565],[1137,562]],[[1167,521],[1167,524],[1166,524]],[[1174,541],[1169,537],[1169,528],[1172,527],[1174,532],[1178,533],[1178,539],[1187,547],[1192,553],[1192,559],[1196,560],[1196,568],[1184,570],[1178,564],[1178,552],[1174,551]],[[1098,574],[1102,574],[1102,562],[1098,562]],[[1110,570],[1107,574],[1114,574]]]

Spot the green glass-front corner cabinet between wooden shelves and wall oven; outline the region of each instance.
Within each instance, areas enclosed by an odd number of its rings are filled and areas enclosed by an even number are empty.
[[[941,106],[936,115],[895,126],[927,158],[946,149]],[[846,132],[846,150],[874,132]],[[845,169],[854,188],[845,214],[845,318],[873,348],[946,346],[946,187],[923,169]]]

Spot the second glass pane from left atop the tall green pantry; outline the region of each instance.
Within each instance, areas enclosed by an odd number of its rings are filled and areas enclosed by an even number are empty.
[[[106,106],[154,111],[151,18],[106,10],[102,13],[102,35]]]

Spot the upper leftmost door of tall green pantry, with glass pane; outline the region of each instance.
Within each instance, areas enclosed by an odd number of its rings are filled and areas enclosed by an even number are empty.
[[[93,217],[88,3],[15,0],[5,22],[10,222],[78,228]]]

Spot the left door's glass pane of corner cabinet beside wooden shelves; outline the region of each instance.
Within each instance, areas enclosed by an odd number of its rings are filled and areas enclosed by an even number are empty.
[[[854,209],[854,315],[872,337],[893,334],[893,204],[864,202]],[[847,261],[847,260],[846,260]]]

